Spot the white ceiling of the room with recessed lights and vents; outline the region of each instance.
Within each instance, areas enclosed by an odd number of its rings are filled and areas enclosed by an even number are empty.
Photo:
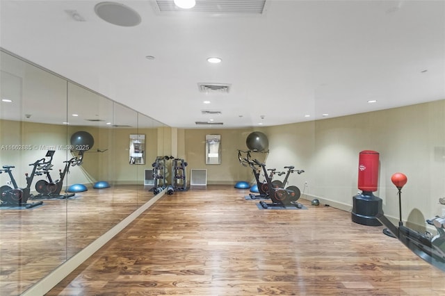
[[[161,13],[155,0],[118,1],[139,13],[137,26],[104,22],[99,2],[1,0],[0,47],[180,128],[211,119],[270,126],[445,99],[445,1],[266,0],[260,15]],[[197,83],[231,88],[206,94]]]

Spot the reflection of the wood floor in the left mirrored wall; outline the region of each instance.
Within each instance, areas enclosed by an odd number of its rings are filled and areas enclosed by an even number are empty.
[[[152,197],[143,186],[114,186],[31,209],[1,208],[0,295],[23,293]]]

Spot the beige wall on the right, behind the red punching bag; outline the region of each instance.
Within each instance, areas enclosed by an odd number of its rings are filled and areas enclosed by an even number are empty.
[[[268,127],[268,165],[295,165],[306,172],[290,182],[323,202],[350,210],[357,194],[359,152],[380,154],[378,191],[387,215],[398,217],[391,175],[403,172],[403,219],[424,224],[445,206],[445,100],[316,122]],[[308,186],[305,186],[307,181]]]

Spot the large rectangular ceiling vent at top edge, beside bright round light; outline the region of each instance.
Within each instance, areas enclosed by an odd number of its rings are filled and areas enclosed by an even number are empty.
[[[261,15],[266,0],[196,0],[195,7],[184,10],[172,0],[156,0],[156,8],[160,13],[217,13],[217,14],[248,14]]]

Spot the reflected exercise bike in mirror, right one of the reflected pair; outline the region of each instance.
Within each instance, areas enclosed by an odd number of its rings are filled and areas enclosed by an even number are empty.
[[[47,156],[50,157],[52,161],[52,157],[54,156],[54,151],[50,150],[47,152]],[[51,178],[51,174],[49,173],[52,170],[51,162],[49,165],[42,167],[40,174],[45,174],[47,176],[48,181],[39,180],[35,183],[35,190],[38,192],[38,195],[34,195],[31,199],[51,199],[51,198],[59,198],[66,199],[69,197],[73,197],[75,193],[67,193],[65,195],[60,195],[63,187],[63,179],[65,179],[66,174],[70,173],[70,167],[75,167],[76,165],[81,165],[83,163],[83,151],[79,151],[77,156],[74,156],[68,161],[64,161],[65,167],[63,170],[58,170],[60,179],[53,181]]]

